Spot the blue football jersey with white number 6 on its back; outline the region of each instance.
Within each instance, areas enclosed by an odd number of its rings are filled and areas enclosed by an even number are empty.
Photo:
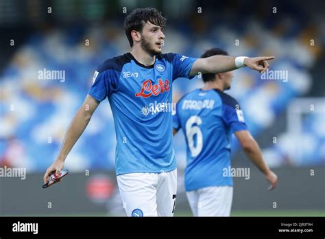
[[[192,91],[176,105],[173,128],[182,128],[186,139],[186,191],[232,185],[232,177],[223,175],[230,167],[231,136],[247,129],[234,98],[217,89]]]

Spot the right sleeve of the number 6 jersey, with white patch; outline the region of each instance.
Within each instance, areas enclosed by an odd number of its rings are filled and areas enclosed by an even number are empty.
[[[237,100],[234,100],[234,98],[223,103],[222,114],[224,122],[230,128],[231,133],[248,129],[243,117],[243,111],[241,111]]]

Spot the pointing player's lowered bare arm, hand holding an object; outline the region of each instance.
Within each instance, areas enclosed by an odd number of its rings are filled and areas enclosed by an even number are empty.
[[[87,95],[86,99],[84,100],[82,106],[77,110],[75,117],[69,128],[67,129],[67,133],[65,134],[64,140],[62,142],[62,146],[59,152],[59,155],[44,174],[44,183],[49,181],[49,176],[56,172],[56,174],[60,174],[64,166],[64,161],[67,158],[70,150],[79,139],[80,135],[84,132],[84,129],[88,125],[88,122],[91,120],[91,116],[93,115],[95,109],[97,109],[99,102],[95,100],[91,95]]]

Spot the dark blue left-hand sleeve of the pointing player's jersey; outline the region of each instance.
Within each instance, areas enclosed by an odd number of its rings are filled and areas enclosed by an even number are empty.
[[[118,77],[117,72],[112,68],[111,60],[106,60],[103,65],[99,66],[93,76],[93,85],[88,91],[88,95],[93,96],[101,102],[108,97],[112,91],[117,89]]]

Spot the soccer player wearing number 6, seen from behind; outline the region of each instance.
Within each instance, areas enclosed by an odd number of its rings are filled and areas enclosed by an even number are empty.
[[[228,53],[213,48],[202,58],[211,56]],[[232,71],[203,74],[204,87],[184,95],[173,115],[173,135],[182,128],[186,138],[185,190],[194,216],[230,216],[232,177],[224,172],[230,168],[232,133],[271,183],[269,190],[276,187],[276,174],[263,161],[238,102],[224,93],[230,89],[232,77]]]

